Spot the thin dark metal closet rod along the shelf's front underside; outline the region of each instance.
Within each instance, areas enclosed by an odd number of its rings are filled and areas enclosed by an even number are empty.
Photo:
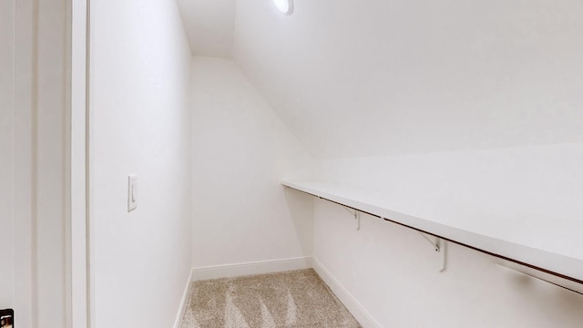
[[[433,233],[433,232],[424,231],[424,230],[422,230],[422,229],[419,229],[419,228],[415,228],[415,227],[412,227],[412,226],[406,225],[406,224],[404,224],[404,223],[401,223],[401,222],[399,222],[399,221],[395,221],[395,220],[391,220],[391,219],[383,218],[383,217],[381,217],[381,216],[379,216],[379,215],[376,215],[376,214],[373,214],[373,213],[367,212],[366,210],[360,210],[360,209],[356,209],[356,208],[353,208],[352,206],[348,206],[348,205],[346,205],[346,204],[340,203],[340,202],[338,202],[338,201],[335,201],[335,200],[328,200],[328,199],[326,199],[326,198],[323,198],[322,196],[315,195],[315,194],[312,194],[312,193],[310,193],[310,192],[306,192],[306,191],[303,191],[303,190],[298,190],[298,191],[302,191],[303,193],[306,193],[306,194],[308,194],[308,195],[312,195],[312,196],[314,196],[314,197],[317,197],[317,198],[319,198],[319,199],[321,199],[321,200],[327,200],[327,201],[330,201],[330,202],[332,202],[332,203],[334,203],[334,204],[338,204],[338,205],[341,205],[341,206],[343,206],[343,207],[347,207],[347,208],[349,208],[349,209],[358,210],[358,211],[360,211],[361,213],[368,214],[368,215],[370,215],[370,216],[373,216],[373,217],[376,217],[376,218],[379,218],[379,219],[383,219],[383,220],[385,220],[385,221],[389,221],[389,222],[392,222],[392,223],[394,223],[394,224],[398,224],[398,225],[400,225],[400,226],[403,226],[403,227],[405,227],[405,228],[412,229],[412,230],[414,230],[414,231],[423,232],[423,233],[426,233],[426,234],[428,234],[428,235],[434,236],[434,237],[436,237],[436,238],[441,238],[441,239],[442,239],[442,240],[444,240],[444,241],[453,242],[453,243],[455,243],[455,244],[457,244],[457,245],[464,246],[464,247],[466,247],[466,248],[468,248],[468,249],[471,249],[471,250],[474,250],[474,251],[479,251],[479,252],[485,253],[485,254],[487,254],[487,255],[490,255],[490,256],[494,256],[494,257],[496,257],[496,258],[498,258],[498,259],[502,259],[502,260],[505,260],[505,261],[511,261],[511,262],[514,262],[514,263],[517,263],[517,264],[520,264],[520,265],[526,266],[527,268],[534,269],[534,270],[537,270],[537,271],[539,271],[539,272],[545,272],[545,273],[547,273],[547,274],[554,275],[554,276],[556,276],[556,277],[558,277],[558,278],[562,278],[562,279],[568,280],[568,281],[570,281],[570,282],[577,282],[577,283],[579,283],[579,284],[583,284],[583,281],[581,281],[581,280],[579,280],[579,279],[577,279],[577,278],[569,277],[568,275],[565,275],[565,274],[562,274],[562,273],[553,272],[553,271],[547,270],[547,269],[545,269],[545,268],[538,267],[538,266],[536,266],[536,265],[533,265],[533,264],[530,264],[530,263],[527,263],[527,262],[524,262],[524,261],[518,261],[518,260],[516,260],[516,259],[512,259],[512,258],[506,257],[506,256],[504,256],[504,255],[500,255],[500,254],[493,253],[493,252],[491,252],[491,251],[482,250],[482,249],[479,249],[479,248],[477,248],[477,247],[474,247],[474,246],[471,246],[471,245],[465,244],[464,242],[461,242],[461,241],[455,241],[455,240],[452,240],[452,239],[450,239],[450,238],[447,238],[447,237],[444,237],[444,236],[440,236],[440,235],[438,235],[438,234],[435,234],[435,233]],[[557,284],[556,284],[556,283],[554,283],[554,282],[551,282],[551,283],[553,283],[553,284],[557,285]],[[577,291],[573,291],[572,289],[570,289],[570,288],[568,288],[568,287],[565,287],[565,286],[561,286],[561,285],[557,285],[557,286],[559,286],[559,287],[562,287],[562,288],[565,288],[565,289],[567,289],[567,290],[569,290],[569,291],[572,291],[572,292],[577,292]],[[578,293],[580,293],[580,292],[578,292]]]

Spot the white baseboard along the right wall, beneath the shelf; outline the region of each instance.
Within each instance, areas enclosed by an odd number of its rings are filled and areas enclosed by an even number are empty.
[[[373,317],[364,310],[360,302],[356,301],[353,295],[344,288],[344,286],[326,269],[322,262],[318,261],[316,258],[312,258],[313,270],[320,275],[322,281],[326,282],[328,287],[332,292],[338,297],[340,302],[343,302],[344,306],[350,313],[353,314],[354,318],[363,325],[364,328],[381,328],[382,326],[377,323]]]

